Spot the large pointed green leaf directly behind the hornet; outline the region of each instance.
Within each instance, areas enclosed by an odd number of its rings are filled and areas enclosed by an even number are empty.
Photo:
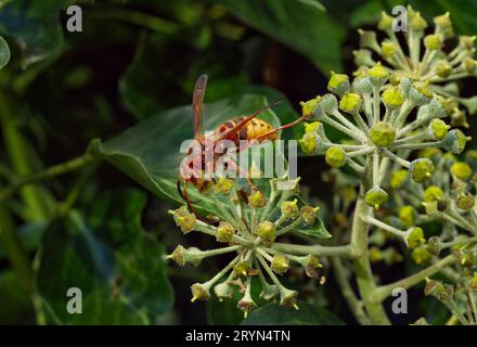
[[[206,104],[204,129],[212,130],[235,116],[250,114],[268,102],[261,95],[245,94],[235,99]],[[180,106],[149,117],[119,136],[102,143],[95,140],[91,153],[106,159],[152,193],[183,204],[177,191],[179,167],[185,154],[180,153],[182,141],[192,138],[191,106]],[[276,115],[266,111],[260,116],[274,127]],[[217,214],[212,201],[190,185],[192,201],[197,207]]]

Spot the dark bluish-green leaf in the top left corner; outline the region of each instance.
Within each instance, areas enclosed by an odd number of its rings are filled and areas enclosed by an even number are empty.
[[[60,11],[66,3],[66,0],[16,0],[2,3],[0,31],[15,38],[23,53],[24,67],[54,55],[63,48]]]

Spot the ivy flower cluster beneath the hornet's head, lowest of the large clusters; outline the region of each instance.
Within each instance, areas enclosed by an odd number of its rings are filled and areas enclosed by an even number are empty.
[[[257,283],[253,278],[257,277],[261,283],[261,298],[272,300],[279,297],[280,305],[298,309],[298,293],[285,287],[280,280],[293,265],[302,267],[308,277],[324,283],[321,274],[323,266],[317,254],[304,255],[299,245],[278,242],[291,233],[330,236],[318,218],[319,208],[299,202],[299,179],[294,181],[289,190],[279,190],[279,181],[270,180],[269,194],[253,191],[245,195],[243,190],[236,188],[234,180],[218,179],[207,194],[218,208],[218,216],[214,216],[215,223],[199,220],[185,206],[170,211],[184,234],[199,232],[223,244],[222,247],[207,250],[179,245],[168,256],[179,266],[197,266],[205,258],[233,255],[233,259],[210,280],[191,286],[192,301],[208,300],[211,291],[220,300],[232,298],[238,291],[242,298],[237,307],[246,316],[257,308],[252,296],[253,283]]]

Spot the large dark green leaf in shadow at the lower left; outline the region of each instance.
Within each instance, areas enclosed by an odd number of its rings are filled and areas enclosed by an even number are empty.
[[[147,324],[171,308],[163,245],[140,219],[144,193],[107,192],[81,216],[72,211],[43,236],[37,287],[55,323]],[[66,311],[66,293],[82,293],[82,314]]]

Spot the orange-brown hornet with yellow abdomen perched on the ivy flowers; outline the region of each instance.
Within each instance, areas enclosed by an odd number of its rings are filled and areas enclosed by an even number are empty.
[[[202,114],[205,90],[207,88],[207,75],[202,75],[197,78],[192,99],[194,140],[197,140],[201,143],[201,153],[193,155],[192,159],[185,165],[185,167],[182,167],[182,169],[191,175],[186,175],[188,177],[183,177],[181,171],[181,175],[179,176],[179,179],[177,181],[177,189],[180,196],[188,203],[189,209],[193,213],[195,213],[195,210],[189,197],[188,183],[191,182],[199,191],[206,190],[210,184],[210,180],[203,179],[201,175],[202,172],[195,172],[194,168],[199,167],[203,171],[206,169],[210,169],[210,167],[214,167],[216,160],[220,157],[220,154],[215,154],[214,158],[206,158],[205,153],[207,149],[214,147],[216,143],[221,140],[231,140],[237,145],[240,152],[248,147],[248,145],[246,147],[241,147],[238,145],[241,140],[255,140],[255,143],[263,142],[266,140],[274,141],[279,138],[278,131],[293,127],[301,121],[304,118],[306,118],[306,116],[301,116],[296,120],[279,128],[273,128],[267,121],[256,118],[263,111],[281,102],[275,101],[270,105],[257,110],[250,115],[235,117],[229,121],[225,121],[224,124],[221,124],[215,131],[211,132],[210,136],[206,137],[203,134],[202,129]],[[197,163],[198,165],[195,165]],[[237,170],[241,171],[241,174],[244,175],[250,189],[258,190],[255,184],[249,180],[248,176],[242,172],[241,168],[235,162],[229,160],[229,163],[231,163]],[[181,189],[181,182],[183,183],[183,191]]]

